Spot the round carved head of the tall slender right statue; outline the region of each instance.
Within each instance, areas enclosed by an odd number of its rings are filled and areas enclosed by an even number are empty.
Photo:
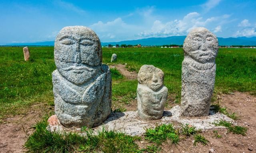
[[[218,39],[208,29],[198,27],[188,33],[183,50],[185,56],[199,63],[212,62],[218,53]]]

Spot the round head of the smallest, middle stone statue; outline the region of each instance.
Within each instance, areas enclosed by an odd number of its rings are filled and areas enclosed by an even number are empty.
[[[138,81],[156,91],[164,83],[164,73],[153,65],[143,65],[138,73]]]

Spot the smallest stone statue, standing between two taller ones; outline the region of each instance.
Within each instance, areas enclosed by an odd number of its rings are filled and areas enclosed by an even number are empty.
[[[164,73],[153,65],[143,65],[138,73],[138,116],[143,120],[158,120],[164,112],[168,89]]]

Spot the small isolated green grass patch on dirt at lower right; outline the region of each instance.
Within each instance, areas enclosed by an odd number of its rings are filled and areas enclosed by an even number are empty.
[[[248,128],[243,127],[243,126],[234,126],[232,123],[227,122],[227,121],[223,121],[221,120],[218,123],[214,123],[215,126],[224,126],[226,128],[228,128],[228,132],[232,132],[234,134],[241,134],[243,136],[246,135],[246,132],[248,130]]]

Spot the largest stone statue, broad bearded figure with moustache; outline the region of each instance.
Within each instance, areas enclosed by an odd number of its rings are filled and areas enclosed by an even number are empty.
[[[66,127],[102,124],[111,112],[111,75],[100,39],[83,26],[64,27],[54,44],[55,113]]]

